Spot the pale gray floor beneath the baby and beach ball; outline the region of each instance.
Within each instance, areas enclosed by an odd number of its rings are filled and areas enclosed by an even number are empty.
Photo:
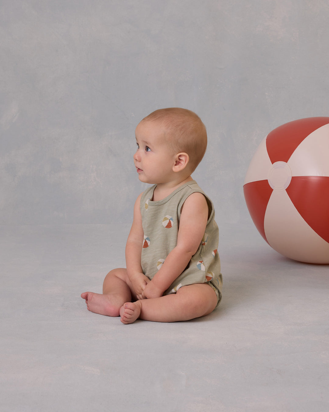
[[[90,313],[127,225],[0,227],[1,411],[328,411],[328,265],[221,227],[222,304],[189,322]]]

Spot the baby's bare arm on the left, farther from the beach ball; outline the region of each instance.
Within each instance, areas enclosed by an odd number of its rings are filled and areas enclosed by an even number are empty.
[[[140,201],[141,194],[137,197],[134,205],[134,220],[125,249],[127,274],[138,299],[141,299],[141,294],[146,284],[150,281],[148,277],[143,274],[143,269],[141,268],[141,250],[143,248],[144,232],[141,224]]]

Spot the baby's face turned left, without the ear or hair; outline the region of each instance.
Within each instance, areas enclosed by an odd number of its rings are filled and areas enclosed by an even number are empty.
[[[165,139],[165,131],[157,122],[144,121],[137,125],[137,152],[134,163],[141,182],[168,183],[173,176],[175,153]]]

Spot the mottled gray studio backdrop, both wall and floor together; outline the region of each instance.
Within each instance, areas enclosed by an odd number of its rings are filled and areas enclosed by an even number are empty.
[[[0,0],[1,412],[329,410],[328,265],[284,258],[243,180],[276,126],[328,116],[327,0]],[[188,322],[88,312],[125,265],[134,129],[197,112],[223,300]]]

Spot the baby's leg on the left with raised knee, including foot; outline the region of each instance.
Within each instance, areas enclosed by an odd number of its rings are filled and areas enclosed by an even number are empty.
[[[89,311],[106,316],[120,316],[120,307],[132,297],[136,299],[126,269],[114,269],[106,275],[103,294],[84,292],[81,297]]]

